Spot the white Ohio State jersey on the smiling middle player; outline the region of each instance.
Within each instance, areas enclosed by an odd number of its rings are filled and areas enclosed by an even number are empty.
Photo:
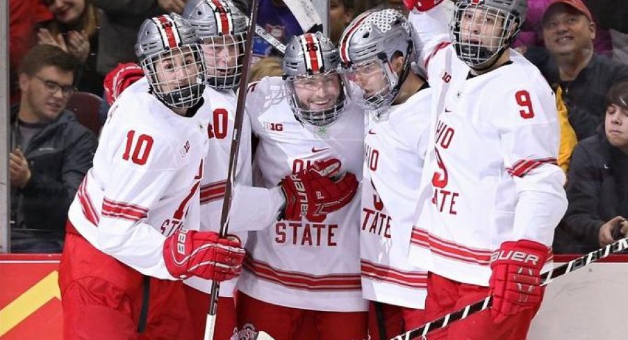
[[[281,78],[251,85],[247,110],[259,144],[254,183],[275,187],[284,176],[316,160],[338,158],[342,170],[362,173],[362,110],[347,106],[326,131],[313,133],[295,119]],[[365,311],[359,262],[360,200],[322,223],[276,221],[249,233],[238,289],[275,305],[334,312]]]

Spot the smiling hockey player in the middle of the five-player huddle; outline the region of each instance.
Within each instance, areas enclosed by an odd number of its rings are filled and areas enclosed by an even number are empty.
[[[345,103],[337,66],[338,51],[329,39],[306,33],[286,46],[283,79],[249,85],[247,112],[259,139],[256,185],[274,187],[316,161],[361,173],[364,115]],[[241,337],[263,330],[291,340],[307,319],[315,323],[317,339],[367,338],[359,205],[355,199],[336,212],[297,221],[283,216],[249,233],[250,256],[236,298]]]

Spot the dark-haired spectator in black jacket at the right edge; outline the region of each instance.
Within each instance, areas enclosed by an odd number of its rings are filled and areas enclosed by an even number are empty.
[[[569,207],[554,246],[588,253],[628,230],[628,81],[606,95],[604,128],[576,146],[567,180]]]

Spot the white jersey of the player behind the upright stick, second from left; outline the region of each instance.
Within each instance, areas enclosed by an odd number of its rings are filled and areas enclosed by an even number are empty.
[[[229,171],[231,140],[236,121],[237,96],[231,90],[205,90],[210,98],[207,136],[209,147],[205,156],[205,171],[201,180],[201,230],[220,231],[222,204]],[[266,188],[252,187],[251,180],[251,122],[247,114],[242,117],[240,146],[236,171],[236,185],[231,196],[229,234],[236,235],[246,244],[247,231],[267,226],[276,219],[283,196]],[[238,278],[220,284],[220,296],[233,296]],[[211,281],[192,277],[185,284],[210,293]]]

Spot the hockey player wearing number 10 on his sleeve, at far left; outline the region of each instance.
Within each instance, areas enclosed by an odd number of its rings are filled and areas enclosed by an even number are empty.
[[[140,27],[135,51],[150,90],[136,83],[109,110],[68,213],[64,339],[135,339],[138,329],[142,339],[191,339],[180,280],[240,271],[237,240],[191,230],[208,144],[198,43],[176,15]]]

